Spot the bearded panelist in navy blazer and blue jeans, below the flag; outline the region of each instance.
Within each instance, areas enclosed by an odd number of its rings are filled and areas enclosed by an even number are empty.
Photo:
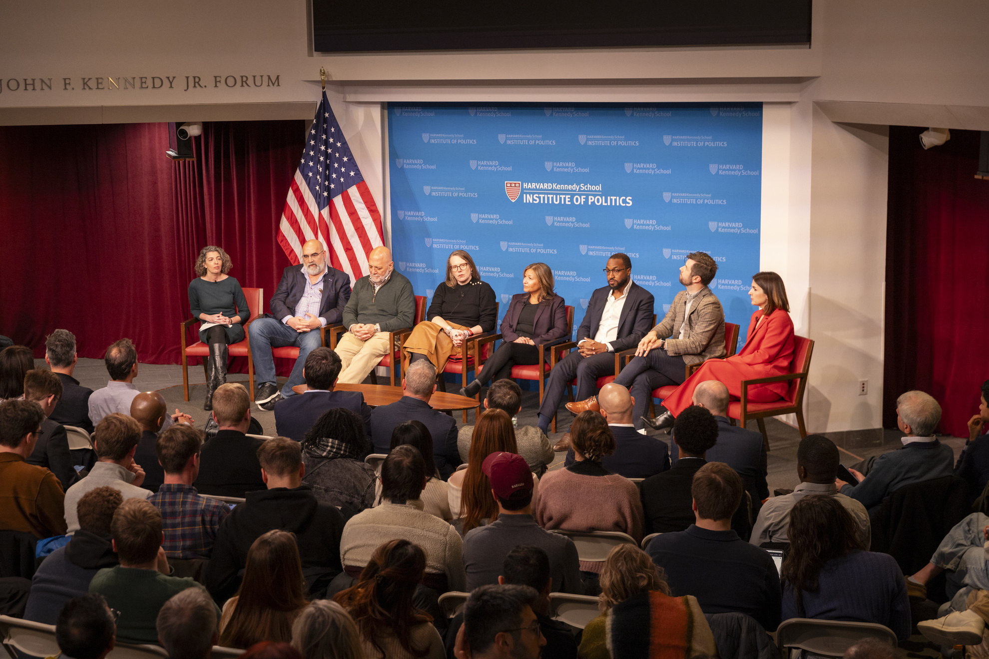
[[[250,353],[258,380],[254,402],[258,407],[270,411],[282,398],[295,395],[292,387],[303,383],[306,358],[320,345],[316,330],[338,324],[348,299],[350,278],[326,264],[321,242],[307,240],[303,245],[303,265],[289,266],[282,273],[282,281],[271,296],[271,313],[250,325]],[[271,349],[283,346],[298,347],[299,359],[279,392]]]

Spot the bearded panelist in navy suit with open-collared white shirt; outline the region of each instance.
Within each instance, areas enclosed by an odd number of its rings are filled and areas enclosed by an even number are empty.
[[[617,375],[613,353],[635,348],[653,326],[653,293],[632,282],[632,262],[626,254],[613,254],[604,271],[608,285],[590,295],[584,322],[577,330],[577,350],[550,373],[543,403],[539,406],[539,428],[549,434],[563,392],[577,378],[577,399],[585,400],[597,390],[597,378]],[[566,444],[555,447],[562,451]]]

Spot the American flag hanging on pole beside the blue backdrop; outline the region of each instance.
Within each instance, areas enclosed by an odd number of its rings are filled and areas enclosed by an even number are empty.
[[[282,210],[278,243],[298,265],[303,243],[316,238],[329,251],[330,265],[356,282],[368,274],[367,255],[384,237],[381,213],[323,92]]]

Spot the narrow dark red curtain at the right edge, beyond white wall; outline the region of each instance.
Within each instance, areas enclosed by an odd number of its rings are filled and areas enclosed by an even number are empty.
[[[942,404],[941,432],[967,437],[989,379],[989,181],[973,176],[978,132],[925,151],[924,129],[889,131],[883,424],[896,427],[899,394],[921,389]]]

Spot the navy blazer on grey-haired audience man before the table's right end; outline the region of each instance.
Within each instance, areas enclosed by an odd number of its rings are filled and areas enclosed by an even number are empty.
[[[278,409],[277,406],[275,409]],[[381,405],[371,412],[371,443],[375,453],[392,451],[392,431],[405,421],[421,421],[429,429],[433,441],[433,459],[443,480],[460,465],[457,451],[457,422],[453,417],[437,412],[429,403],[403,396],[390,405]]]

